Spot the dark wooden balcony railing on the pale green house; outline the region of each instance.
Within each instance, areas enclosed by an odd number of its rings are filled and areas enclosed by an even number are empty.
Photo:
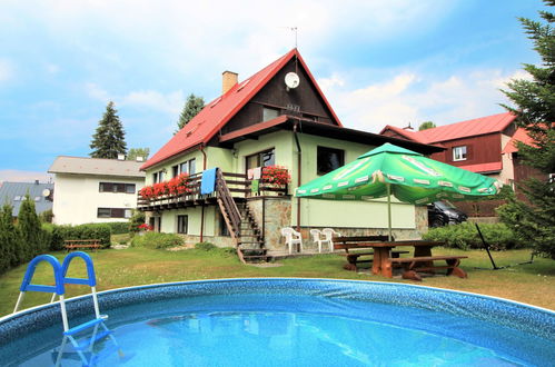
[[[229,194],[234,198],[248,198],[252,196],[283,196],[288,194],[288,186],[275,186],[268,185],[260,181],[257,192],[252,192],[251,181],[247,179],[247,175],[232,173],[232,172],[221,172],[222,179],[229,190]],[[140,194],[137,196],[137,209],[139,210],[151,210],[172,208],[177,206],[187,206],[188,204],[196,204],[199,201],[210,201],[216,202],[218,191],[210,195],[200,195],[200,181],[202,173],[191,175],[187,184],[187,192],[184,194],[167,194],[153,198],[143,198]]]

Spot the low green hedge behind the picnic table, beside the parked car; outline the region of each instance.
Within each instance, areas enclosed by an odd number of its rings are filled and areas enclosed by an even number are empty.
[[[480,224],[478,226],[484,239],[489,245],[489,248],[494,250],[525,247],[525,242],[503,224]],[[459,248],[463,250],[484,248],[484,244],[473,222],[430,228],[429,231],[423,236],[423,239],[445,241],[446,247]]]

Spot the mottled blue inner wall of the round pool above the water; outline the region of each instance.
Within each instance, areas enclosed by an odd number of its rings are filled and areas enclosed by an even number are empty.
[[[489,340],[488,343],[493,344],[490,347],[496,350],[513,348],[512,333],[531,335],[529,345],[523,348],[529,355],[545,353],[543,346],[538,345],[536,337],[555,343],[555,313],[552,310],[488,296],[395,282],[298,278],[184,281],[102,291],[99,292],[99,302],[101,313],[110,315],[110,327],[116,327],[140,319],[142,315],[137,315],[133,309],[139,310],[149,304],[161,305],[159,309],[153,306],[149,310],[149,317],[163,316],[171,311],[166,308],[163,301],[176,298],[229,296],[229,308],[231,309],[234,307],[232,296],[236,294],[252,294],[255,296],[285,294],[294,296],[291,299],[295,299],[295,296],[315,296],[318,301],[315,301],[314,309],[310,311],[330,314],[334,313],[334,309],[341,307],[341,300],[357,300],[361,302],[360,308],[341,309],[341,315],[349,316],[348,314],[353,313],[350,316],[356,317],[357,313],[375,313],[375,317],[379,317],[380,321],[399,326],[403,326],[403,316],[380,313],[381,306],[407,307],[407,313],[412,313],[413,316],[419,311],[437,313],[438,324],[440,324],[442,315],[445,314],[474,318],[486,324],[483,329],[473,330],[472,335],[474,337],[480,335],[482,338]],[[258,298],[259,305],[255,300],[249,307],[252,309],[264,308],[265,297],[255,297],[255,299]],[[326,302],[327,299],[331,301]],[[306,311],[296,310],[294,301],[283,307],[284,311]],[[68,299],[67,308],[70,326],[93,317],[90,296]],[[121,309],[126,311],[119,311]],[[414,321],[412,323],[413,325],[409,327],[419,327]],[[492,324],[498,328],[493,328]],[[62,326],[58,302],[3,317],[0,319],[0,348],[17,341],[22,336],[27,336],[28,339],[31,336],[32,340],[33,334],[39,335],[41,330],[52,327],[59,328],[61,336]],[[424,325],[423,323],[423,327],[429,328],[429,324]],[[437,328],[430,331],[465,340],[465,330],[446,329],[442,325],[437,325]],[[466,341],[475,343],[475,340]]]

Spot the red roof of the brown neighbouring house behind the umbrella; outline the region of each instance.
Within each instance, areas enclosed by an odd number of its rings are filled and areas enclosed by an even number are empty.
[[[492,132],[501,132],[513,122],[514,119],[514,115],[505,112],[463,122],[444,125],[423,131],[415,131],[414,133],[418,137],[418,141],[425,143],[448,141]]]

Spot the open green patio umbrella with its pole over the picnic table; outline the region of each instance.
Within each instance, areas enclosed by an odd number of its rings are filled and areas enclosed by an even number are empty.
[[[296,189],[295,196],[325,200],[371,200],[387,197],[392,238],[392,195],[424,205],[442,199],[475,199],[498,192],[501,185],[415,151],[385,143],[355,161]]]

